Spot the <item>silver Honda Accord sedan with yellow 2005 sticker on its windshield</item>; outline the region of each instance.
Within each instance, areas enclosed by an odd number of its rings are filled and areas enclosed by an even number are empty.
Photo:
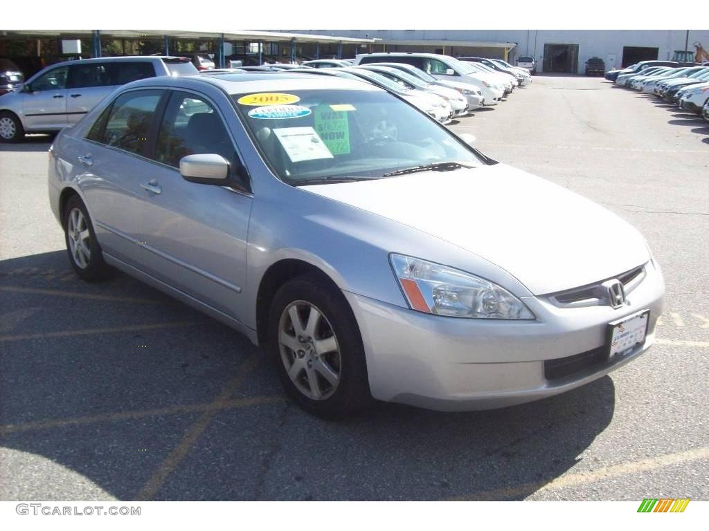
[[[57,136],[50,203],[81,278],[242,331],[320,416],[520,404],[649,348],[643,237],[469,140],[362,81],[145,79]]]

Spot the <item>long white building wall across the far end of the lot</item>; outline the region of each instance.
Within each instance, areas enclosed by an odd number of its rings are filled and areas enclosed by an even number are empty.
[[[686,30],[285,30],[296,33],[320,33],[342,37],[378,38],[388,40],[452,40],[471,42],[516,42],[510,53],[514,60],[521,55],[533,55],[542,69],[545,44],[579,45],[579,74],[586,60],[601,57],[607,63],[615,55],[615,65],[623,61],[624,46],[657,47],[658,59],[672,59],[674,50],[684,50]],[[709,50],[709,30],[690,30],[688,50],[693,42],[702,42]]]

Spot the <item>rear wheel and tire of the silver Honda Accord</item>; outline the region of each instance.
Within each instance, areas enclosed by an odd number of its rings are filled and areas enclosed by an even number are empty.
[[[69,263],[82,280],[100,280],[111,273],[104,262],[94,225],[78,195],[69,198],[64,210],[64,238]]]

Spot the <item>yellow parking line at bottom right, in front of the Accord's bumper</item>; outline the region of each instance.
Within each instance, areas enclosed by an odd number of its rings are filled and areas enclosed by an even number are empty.
[[[523,496],[528,496],[530,493],[567,489],[573,486],[593,483],[594,481],[603,481],[604,479],[615,479],[621,476],[625,476],[627,474],[649,472],[660,468],[671,467],[675,464],[699,461],[700,459],[709,459],[709,446],[693,448],[692,450],[676,452],[674,454],[660,455],[658,457],[649,457],[648,459],[640,459],[638,461],[613,464],[610,467],[589,470],[588,472],[566,474],[566,476],[561,476],[557,479],[552,479],[552,481],[538,481],[535,483],[510,486],[505,489],[482,491],[471,494],[469,496],[459,496],[456,498],[448,499],[450,499],[451,501],[494,501],[506,500],[510,498],[520,498]]]

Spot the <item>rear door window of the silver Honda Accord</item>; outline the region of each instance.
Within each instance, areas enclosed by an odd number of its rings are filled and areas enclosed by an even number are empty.
[[[162,91],[131,91],[118,96],[106,121],[103,143],[143,155]]]

